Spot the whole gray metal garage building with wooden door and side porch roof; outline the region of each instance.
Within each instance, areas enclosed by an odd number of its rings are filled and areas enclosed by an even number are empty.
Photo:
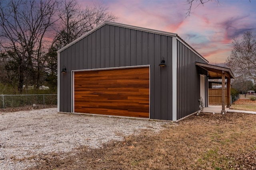
[[[58,111],[176,121],[208,106],[208,77],[232,78],[207,63],[175,33],[106,21],[58,51]]]

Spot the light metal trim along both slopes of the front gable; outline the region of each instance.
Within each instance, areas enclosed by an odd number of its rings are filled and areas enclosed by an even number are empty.
[[[126,24],[122,24],[122,23],[105,21],[105,22],[101,23],[100,25],[98,25],[97,27],[95,27],[94,29],[92,29],[91,31],[88,31],[88,33],[82,35],[81,37],[75,39],[74,41],[72,41],[68,45],[62,47],[61,49],[59,49],[57,51],[57,53],[62,52],[64,49],[66,49],[66,48],[70,47],[71,45],[77,43],[78,41],[80,41],[81,39],[83,39],[84,37],[86,37],[87,35],[91,34],[92,32],[96,31],[97,29],[99,29],[100,27],[102,27],[104,25],[113,25],[113,26],[118,26],[118,27],[136,29],[136,30],[139,30],[139,31],[146,31],[146,32],[149,32],[149,33],[156,33],[156,34],[167,35],[167,36],[171,36],[171,37],[176,37],[177,36],[176,33],[169,33],[169,32],[165,32],[165,31],[158,31],[158,30],[155,30],[155,29],[148,29],[148,28],[143,28],[143,27],[136,27],[136,26],[132,26],[132,25],[126,25]]]

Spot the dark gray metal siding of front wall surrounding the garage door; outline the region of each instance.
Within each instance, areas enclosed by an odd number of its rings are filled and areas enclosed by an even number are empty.
[[[158,64],[164,57],[165,67]],[[71,112],[71,70],[150,65],[150,118],[172,120],[172,37],[104,25],[60,53],[60,111]]]

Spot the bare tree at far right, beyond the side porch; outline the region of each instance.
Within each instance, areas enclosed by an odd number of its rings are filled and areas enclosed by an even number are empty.
[[[244,33],[242,40],[233,39],[233,49],[226,59],[226,66],[238,78],[256,82],[256,36],[251,31]]]

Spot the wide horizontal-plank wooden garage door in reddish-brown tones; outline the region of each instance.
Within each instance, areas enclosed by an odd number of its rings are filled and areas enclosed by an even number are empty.
[[[149,67],[74,72],[74,112],[149,117]]]

